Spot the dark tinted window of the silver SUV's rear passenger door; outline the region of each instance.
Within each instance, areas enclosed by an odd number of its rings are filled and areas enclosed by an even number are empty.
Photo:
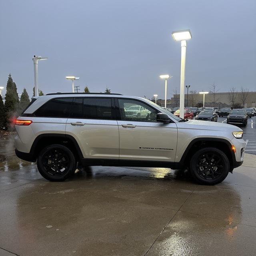
[[[84,98],[84,118],[114,119],[111,98]]]

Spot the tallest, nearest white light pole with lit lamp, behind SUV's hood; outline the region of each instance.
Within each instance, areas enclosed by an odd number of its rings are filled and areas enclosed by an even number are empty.
[[[180,118],[184,118],[184,84],[185,84],[185,68],[186,68],[186,40],[191,39],[190,30],[179,30],[172,32],[175,41],[181,40],[181,63],[180,63]]]

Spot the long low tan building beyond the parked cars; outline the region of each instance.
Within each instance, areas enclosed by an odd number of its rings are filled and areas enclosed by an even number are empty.
[[[188,95],[188,106],[203,106],[203,95],[196,94],[185,94],[185,106],[187,106],[187,95]],[[204,106],[208,107],[232,107],[232,98],[234,98],[234,105],[255,108],[256,107],[256,92],[248,92],[243,97],[242,92],[235,92],[234,96],[230,92],[216,92],[215,94],[205,94]],[[243,100],[243,98],[245,100]],[[244,106],[243,106],[244,101]],[[164,106],[164,100],[158,99],[157,104]],[[180,105],[180,94],[174,94],[171,99],[167,100],[167,107],[176,107]]]

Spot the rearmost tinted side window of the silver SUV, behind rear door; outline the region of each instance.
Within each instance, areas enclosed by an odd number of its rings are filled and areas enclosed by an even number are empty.
[[[56,98],[52,99],[36,112],[36,116],[42,117],[68,117],[72,106],[73,98]]]

